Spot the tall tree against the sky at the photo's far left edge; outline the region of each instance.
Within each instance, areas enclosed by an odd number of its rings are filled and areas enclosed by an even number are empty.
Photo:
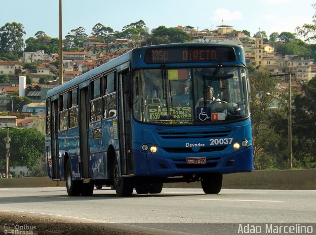
[[[0,28],[0,50],[2,53],[17,54],[25,46],[23,35],[24,27],[20,23],[6,23]]]

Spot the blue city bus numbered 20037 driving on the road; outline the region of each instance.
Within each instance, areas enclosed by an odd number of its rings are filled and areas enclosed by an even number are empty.
[[[211,95],[212,97],[211,97]],[[253,170],[243,48],[178,43],[135,48],[47,92],[47,171],[69,196],[118,197]]]

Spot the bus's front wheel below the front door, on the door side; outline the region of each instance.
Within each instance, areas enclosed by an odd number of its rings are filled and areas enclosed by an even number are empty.
[[[133,177],[121,177],[118,171],[118,161],[115,161],[113,169],[114,188],[118,197],[130,197],[133,194],[134,178]]]

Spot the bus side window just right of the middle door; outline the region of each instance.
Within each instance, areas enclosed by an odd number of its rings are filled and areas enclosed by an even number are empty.
[[[90,121],[101,120],[102,100],[101,100],[101,79],[93,80],[90,84]]]

